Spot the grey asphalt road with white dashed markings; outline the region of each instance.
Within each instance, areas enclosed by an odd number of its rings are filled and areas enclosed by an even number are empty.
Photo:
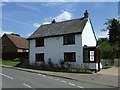
[[[114,88],[2,67],[2,88]]]

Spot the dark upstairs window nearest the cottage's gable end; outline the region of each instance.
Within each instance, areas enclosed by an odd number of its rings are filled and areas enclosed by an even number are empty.
[[[63,37],[63,41],[64,41],[64,45],[67,44],[75,44],[75,35],[74,34],[70,34],[70,35],[65,35]]]

